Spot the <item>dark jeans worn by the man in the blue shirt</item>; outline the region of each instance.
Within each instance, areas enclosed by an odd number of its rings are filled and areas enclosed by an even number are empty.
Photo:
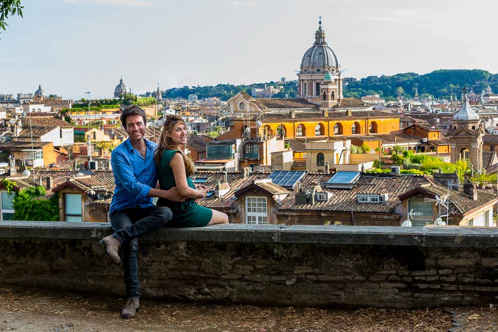
[[[138,281],[138,236],[162,227],[173,217],[166,207],[135,208],[116,211],[111,215],[114,238],[121,242],[124,286],[128,297],[140,297]]]

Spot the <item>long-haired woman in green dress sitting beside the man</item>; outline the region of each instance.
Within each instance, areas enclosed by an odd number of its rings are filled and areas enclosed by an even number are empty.
[[[178,115],[168,115],[164,123],[159,144],[154,152],[158,165],[159,185],[167,190],[176,187],[185,202],[171,202],[160,198],[157,206],[166,206],[173,212],[169,227],[203,227],[217,223],[228,223],[223,212],[208,209],[195,203],[196,198],[206,197],[206,186],[194,186],[189,178],[194,174],[194,163],[185,155],[182,146],[187,144],[187,126]]]

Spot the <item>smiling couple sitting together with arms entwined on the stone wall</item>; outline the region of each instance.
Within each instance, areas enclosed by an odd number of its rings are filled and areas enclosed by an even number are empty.
[[[111,155],[116,190],[109,212],[115,233],[100,242],[116,263],[123,260],[128,299],[121,317],[132,318],[140,297],[138,236],[163,226],[203,227],[228,223],[228,216],[195,203],[196,198],[206,197],[207,188],[194,186],[189,178],[194,173],[194,163],[183,151],[188,133],[180,116],[166,117],[159,144],[143,138],[147,121],[139,107],[125,109],[121,123],[128,139]],[[160,189],[156,189],[158,180]],[[159,198],[156,205],[152,203],[153,197]]]

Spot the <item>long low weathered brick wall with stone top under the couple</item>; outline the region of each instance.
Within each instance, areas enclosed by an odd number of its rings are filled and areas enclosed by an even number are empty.
[[[107,223],[1,222],[0,282],[123,295]],[[283,306],[498,303],[498,229],[230,224],[140,239],[142,296]]]

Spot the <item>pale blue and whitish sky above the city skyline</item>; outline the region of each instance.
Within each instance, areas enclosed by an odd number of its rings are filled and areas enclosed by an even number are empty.
[[[498,73],[492,0],[21,0],[0,34],[0,94],[113,97],[297,79],[322,16],[345,77]]]

